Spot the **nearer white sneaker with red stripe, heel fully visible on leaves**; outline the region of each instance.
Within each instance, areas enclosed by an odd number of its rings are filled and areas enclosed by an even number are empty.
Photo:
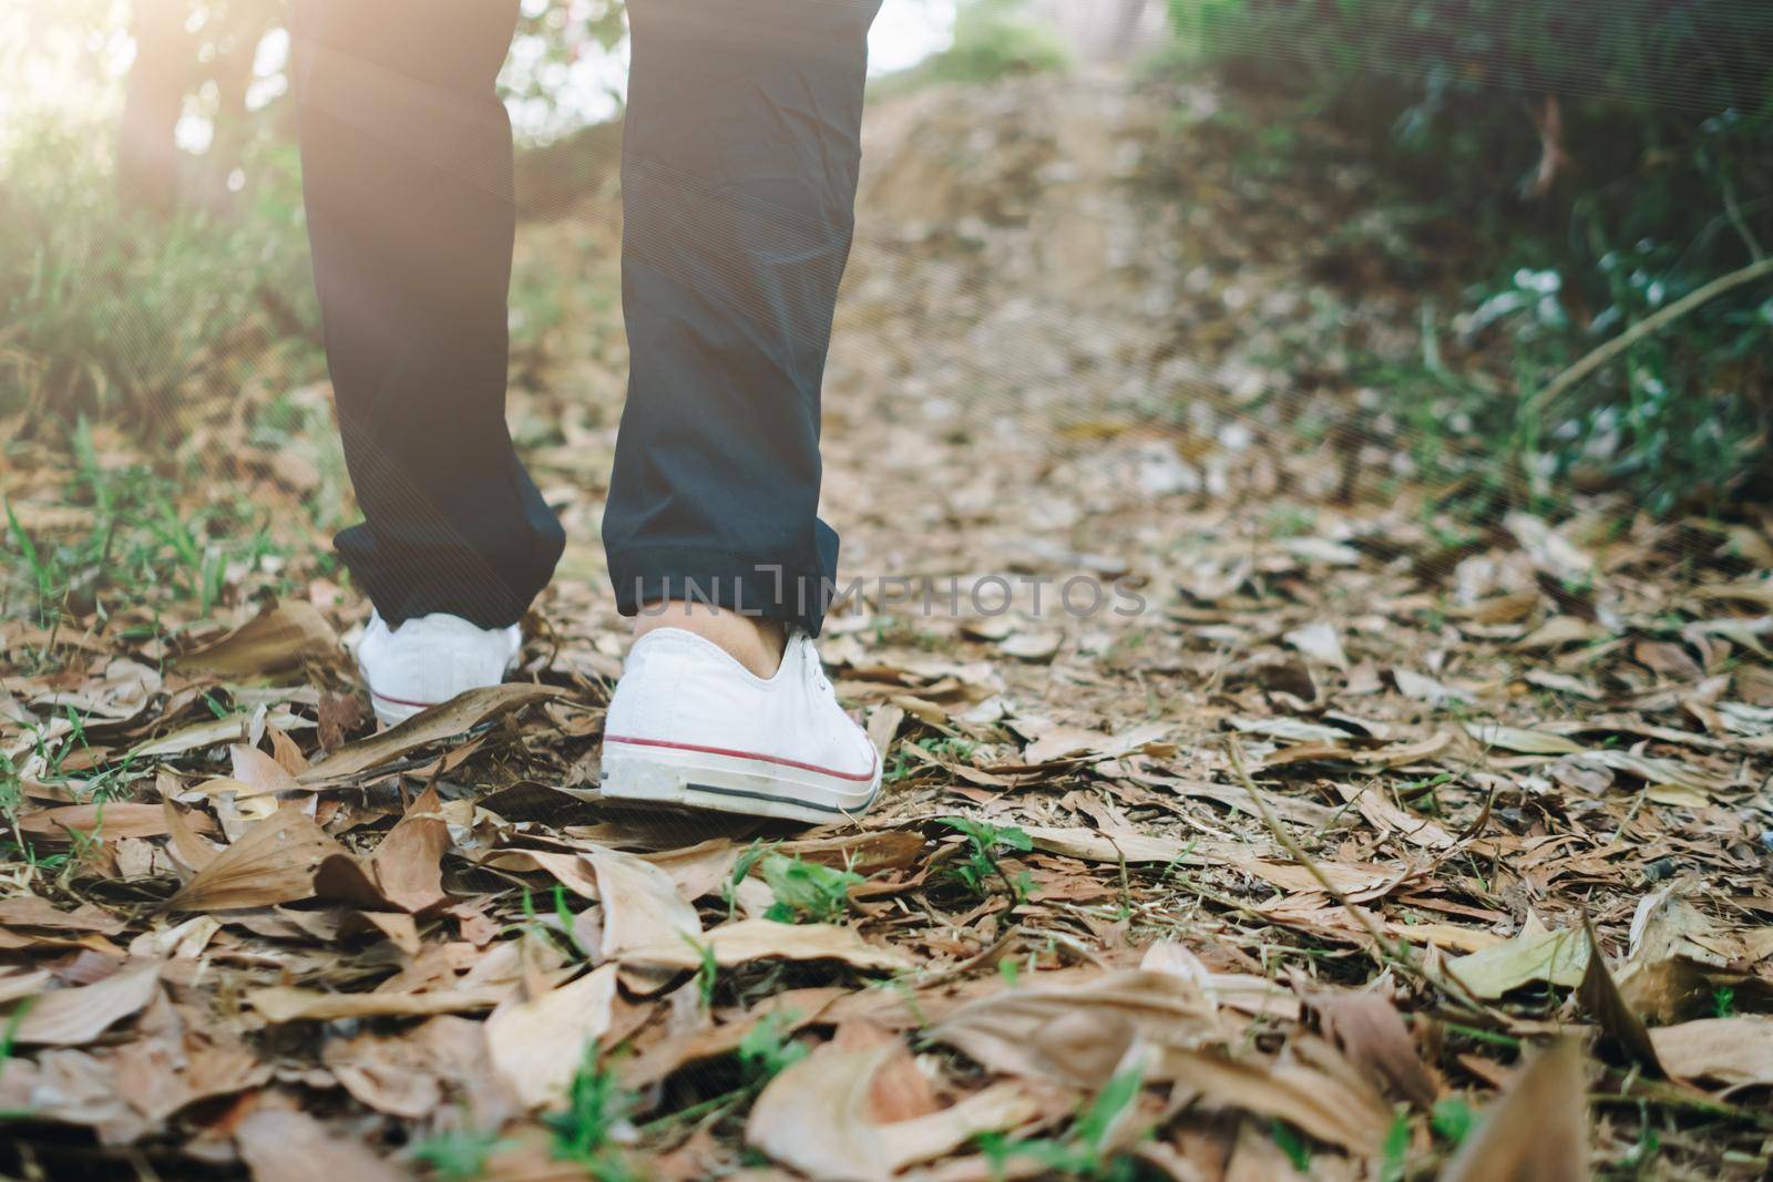
[[[762,679],[677,627],[635,642],[603,723],[603,796],[832,824],[881,787],[874,744],[837,704],[805,633]]]

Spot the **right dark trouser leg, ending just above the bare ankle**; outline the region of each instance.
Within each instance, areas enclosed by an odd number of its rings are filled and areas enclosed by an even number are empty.
[[[628,5],[631,372],[603,519],[626,615],[706,599],[819,631],[837,572],[837,535],[817,519],[819,385],[855,223],[878,9]],[[674,627],[709,618],[672,611]]]

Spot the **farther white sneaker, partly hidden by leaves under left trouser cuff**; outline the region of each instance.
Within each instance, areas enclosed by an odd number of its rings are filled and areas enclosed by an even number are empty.
[[[477,627],[459,615],[422,615],[388,627],[369,617],[356,643],[356,668],[383,727],[441,705],[459,693],[496,686],[518,661],[523,629]]]

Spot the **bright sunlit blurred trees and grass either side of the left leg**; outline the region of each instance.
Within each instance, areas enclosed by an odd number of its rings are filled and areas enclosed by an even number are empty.
[[[193,388],[323,372],[285,0],[0,12],[0,408],[181,432]],[[527,145],[619,115],[621,0],[525,4]],[[269,367],[269,369],[268,369]]]

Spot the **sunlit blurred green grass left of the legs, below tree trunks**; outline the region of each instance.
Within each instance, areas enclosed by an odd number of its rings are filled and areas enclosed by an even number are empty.
[[[0,411],[121,413],[174,429],[193,390],[271,349],[319,372],[293,144],[254,147],[229,209],[168,218],[117,197],[110,128],[16,135],[0,186]]]

